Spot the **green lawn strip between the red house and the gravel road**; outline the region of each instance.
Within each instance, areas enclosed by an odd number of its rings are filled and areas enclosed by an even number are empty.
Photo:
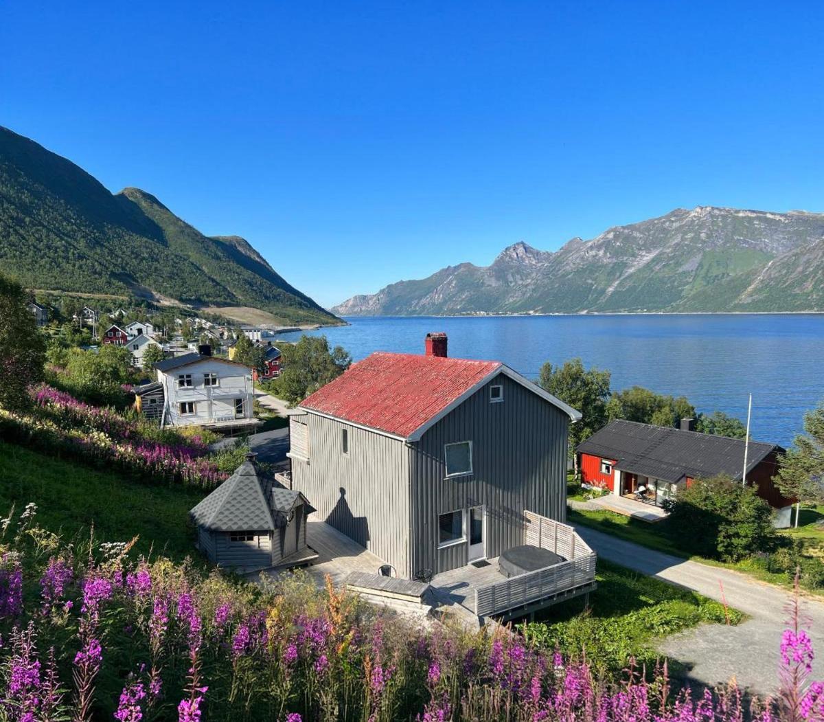
[[[804,539],[805,547],[810,551],[811,555],[824,556],[824,532],[822,532],[820,527],[814,527],[814,523],[820,518],[821,513],[820,510],[803,509],[800,519],[801,523],[798,529],[784,529],[780,530],[779,533]],[[737,570],[745,574],[751,574],[756,577],[756,579],[761,579],[761,581],[770,582],[771,584],[780,584],[784,587],[791,587],[793,585],[793,580],[789,574],[769,571],[765,560],[747,559],[738,562],[723,562],[690,554],[677,543],[677,534],[670,536],[667,533],[669,528],[667,519],[650,524],[641,522],[638,519],[625,517],[623,514],[611,512],[606,509],[592,511],[588,509],[569,509],[567,520],[569,523],[583,524],[584,526],[597,529],[599,532],[606,532],[620,539],[625,539],[628,542],[635,542],[641,546],[647,546],[649,549],[672,554],[672,556],[681,556],[684,559],[691,559],[704,564]],[[814,594],[824,595],[824,589],[822,588],[808,588],[808,591]]]

